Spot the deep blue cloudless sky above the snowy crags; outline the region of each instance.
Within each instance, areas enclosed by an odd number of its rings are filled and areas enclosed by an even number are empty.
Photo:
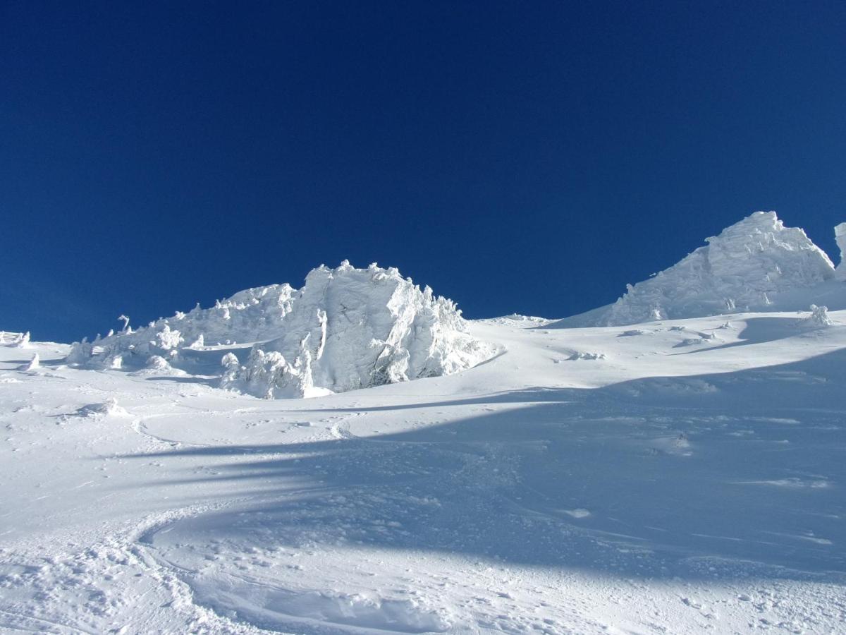
[[[844,34],[843,2],[0,0],[0,329],[343,258],[563,317],[758,209],[836,259]]]

